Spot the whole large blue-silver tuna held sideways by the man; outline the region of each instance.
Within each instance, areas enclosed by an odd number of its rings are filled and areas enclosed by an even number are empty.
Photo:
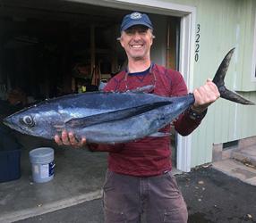
[[[253,104],[226,89],[224,78],[234,49],[220,64],[213,82],[221,97]],[[38,103],[5,118],[4,124],[23,134],[53,139],[64,129],[98,144],[129,142],[161,136],[163,128],[194,103],[192,94],[163,97],[144,93],[87,93],[65,95]],[[164,136],[164,135],[163,135]]]

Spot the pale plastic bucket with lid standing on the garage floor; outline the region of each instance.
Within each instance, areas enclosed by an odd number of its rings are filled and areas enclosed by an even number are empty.
[[[36,183],[45,183],[54,178],[55,152],[50,147],[41,147],[30,151],[32,178]]]

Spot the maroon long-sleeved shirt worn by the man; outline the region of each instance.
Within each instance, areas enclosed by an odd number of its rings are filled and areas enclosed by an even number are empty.
[[[126,76],[126,77],[125,77]],[[105,91],[121,91],[154,86],[153,94],[161,96],[187,95],[188,90],[182,75],[175,70],[153,64],[149,70],[139,73],[127,73],[126,70],[111,78]],[[187,136],[199,126],[201,119],[193,120],[184,112],[173,122],[175,130]],[[160,129],[170,131],[171,125]],[[108,169],[126,175],[148,177],[162,174],[172,169],[170,137],[147,136],[130,143],[117,145],[90,145],[93,151],[108,152]]]

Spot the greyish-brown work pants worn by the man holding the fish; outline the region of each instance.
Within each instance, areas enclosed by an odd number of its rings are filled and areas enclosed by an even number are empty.
[[[175,177],[139,178],[107,170],[103,186],[106,223],[186,223],[188,212]]]

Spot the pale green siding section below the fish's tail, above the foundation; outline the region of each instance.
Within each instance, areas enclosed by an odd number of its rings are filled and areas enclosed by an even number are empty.
[[[256,102],[256,93],[243,94]],[[219,99],[192,133],[192,167],[211,161],[212,145],[256,135],[255,106]]]

